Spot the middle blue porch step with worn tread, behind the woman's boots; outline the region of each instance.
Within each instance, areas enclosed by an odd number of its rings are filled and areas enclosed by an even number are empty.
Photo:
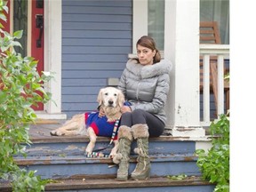
[[[186,174],[199,176],[201,173],[196,166],[196,156],[164,155],[150,156],[151,176]],[[88,158],[85,156],[28,156],[15,158],[17,164],[30,170],[44,179],[70,179],[90,177],[98,179],[102,175],[116,176],[117,166],[109,158]],[[129,172],[135,169],[136,156],[132,156]]]

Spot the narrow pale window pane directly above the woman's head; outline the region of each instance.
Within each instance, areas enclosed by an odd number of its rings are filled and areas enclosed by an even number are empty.
[[[148,0],[148,36],[159,51],[164,50],[164,0]]]

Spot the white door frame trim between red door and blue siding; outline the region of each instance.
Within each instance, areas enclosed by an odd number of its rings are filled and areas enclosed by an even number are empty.
[[[36,112],[38,118],[67,118],[61,113],[61,14],[61,0],[44,0],[44,71],[52,72],[53,79],[46,85],[52,101]]]

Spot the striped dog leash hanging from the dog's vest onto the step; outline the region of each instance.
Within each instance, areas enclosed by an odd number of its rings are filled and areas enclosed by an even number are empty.
[[[109,142],[109,144],[108,144],[108,146],[107,146],[106,148],[109,148],[109,147],[111,146],[112,142],[113,142],[114,139],[115,139],[119,121],[120,121],[120,119],[117,119],[117,120],[116,120],[116,123],[115,123],[114,128],[113,128],[111,140],[110,140],[110,142]],[[105,150],[106,148],[98,148],[98,149],[95,149],[95,150],[92,151],[92,153],[86,153],[86,152],[85,152],[85,156],[86,156],[86,157],[90,157],[90,158],[92,158],[92,157],[107,157],[107,158],[108,158],[108,157],[110,157],[108,154],[104,154],[104,153],[100,152],[100,151],[102,151],[102,150]]]

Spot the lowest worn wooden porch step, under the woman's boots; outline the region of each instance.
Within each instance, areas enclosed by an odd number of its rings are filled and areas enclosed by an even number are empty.
[[[171,180],[167,177],[150,178],[148,180],[127,180],[117,181],[115,179],[82,179],[82,180],[58,180],[57,183],[48,184],[45,187],[45,191],[154,191],[154,192],[212,192],[214,186],[200,177],[188,177],[184,180]],[[12,191],[7,184],[1,185],[0,191],[10,192]]]

